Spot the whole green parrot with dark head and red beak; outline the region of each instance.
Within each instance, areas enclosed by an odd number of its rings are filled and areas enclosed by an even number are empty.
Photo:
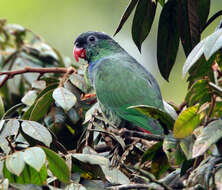
[[[164,110],[165,106],[152,74],[115,40],[102,32],[82,33],[74,42],[73,54],[76,61],[87,60],[90,81],[106,109],[153,134],[163,134],[157,120],[129,109],[148,105]]]

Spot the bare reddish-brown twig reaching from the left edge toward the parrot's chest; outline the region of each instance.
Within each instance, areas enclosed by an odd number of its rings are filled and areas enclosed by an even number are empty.
[[[67,73],[72,74],[76,72],[73,67],[62,68],[62,67],[50,67],[50,68],[39,68],[39,67],[25,67],[24,69],[14,70],[14,71],[4,71],[0,72],[1,75],[6,75],[0,82],[0,88],[7,82],[8,79],[13,78],[15,75],[21,75],[24,73],[39,73],[43,75],[45,73]]]

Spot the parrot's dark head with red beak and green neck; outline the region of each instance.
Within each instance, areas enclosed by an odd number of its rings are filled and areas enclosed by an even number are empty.
[[[79,58],[91,62],[111,54],[118,46],[117,42],[105,33],[85,32],[76,38],[73,55],[77,62]]]

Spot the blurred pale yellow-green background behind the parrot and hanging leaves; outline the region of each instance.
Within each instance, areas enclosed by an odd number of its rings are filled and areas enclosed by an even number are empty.
[[[94,30],[113,35],[128,2],[126,0],[0,0],[0,17],[6,18],[9,23],[21,24],[31,29],[41,35],[47,43],[72,58],[73,41],[80,33]],[[221,0],[211,2],[210,16],[222,9]],[[181,77],[185,55],[180,46],[169,83],[164,81],[159,74],[156,61],[160,10],[161,6],[158,5],[152,31],[142,46],[142,54],[131,39],[132,15],[122,31],[115,36],[115,40],[153,73],[160,84],[164,99],[179,104],[184,99],[187,89],[186,80]],[[202,38],[215,30],[219,20],[220,18],[204,31]]]

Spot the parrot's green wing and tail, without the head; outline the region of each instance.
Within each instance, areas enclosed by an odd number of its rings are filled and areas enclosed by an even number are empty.
[[[97,97],[105,107],[155,134],[162,134],[160,125],[157,126],[153,119],[135,109],[128,109],[135,105],[163,109],[157,82],[134,59],[103,59],[96,68],[93,83]]]

